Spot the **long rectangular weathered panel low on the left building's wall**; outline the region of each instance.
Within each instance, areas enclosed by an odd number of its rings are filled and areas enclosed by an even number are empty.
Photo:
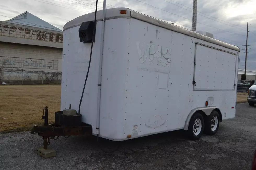
[[[53,60],[0,57],[0,65],[7,68],[54,69]]]

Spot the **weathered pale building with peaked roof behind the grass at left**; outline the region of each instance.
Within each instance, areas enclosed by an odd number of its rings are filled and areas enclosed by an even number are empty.
[[[0,29],[1,81],[61,79],[62,30],[28,12],[0,21]]]

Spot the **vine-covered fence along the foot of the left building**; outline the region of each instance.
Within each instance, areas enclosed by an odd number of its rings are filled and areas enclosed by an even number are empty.
[[[61,83],[61,72],[30,71],[0,68],[0,84],[50,84]]]

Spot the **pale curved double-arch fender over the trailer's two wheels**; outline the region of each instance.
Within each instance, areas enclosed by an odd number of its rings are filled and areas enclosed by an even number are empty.
[[[187,131],[188,130],[188,125],[189,125],[189,121],[191,119],[191,117],[193,116],[194,113],[196,113],[197,111],[201,111],[203,113],[205,113],[207,116],[209,116],[213,110],[217,110],[218,113],[220,113],[220,121],[221,121],[221,112],[220,109],[216,106],[207,106],[207,107],[197,107],[194,108],[193,110],[191,110],[188,114],[188,117],[185,121],[185,126],[184,126],[184,130]]]

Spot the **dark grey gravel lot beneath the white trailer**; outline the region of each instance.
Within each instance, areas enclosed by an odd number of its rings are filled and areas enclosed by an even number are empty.
[[[179,130],[126,141],[113,154],[103,153],[94,137],[71,136],[51,140],[57,155],[44,159],[35,153],[41,137],[0,134],[0,169],[250,169],[255,110],[238,104],[236,117],[223,121],[214,136],[189,141]]]

